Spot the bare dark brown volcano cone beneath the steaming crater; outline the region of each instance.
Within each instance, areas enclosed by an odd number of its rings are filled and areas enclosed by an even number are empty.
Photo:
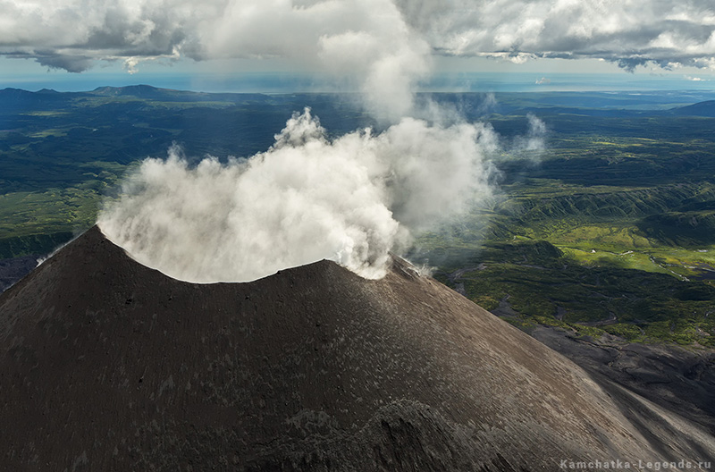
[[[97,227],[0,297],[6,470],[559,470],[710,434],[409,265],[193,284]],[[634,466],[635,467],[635,466]]]

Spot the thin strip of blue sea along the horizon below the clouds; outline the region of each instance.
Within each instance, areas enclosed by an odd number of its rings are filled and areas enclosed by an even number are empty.
[[[355,86],[339,87],[331,80],[308,74],[250,72],[239,74],[100,73],[55,74],[6,77],[0,89],[55,89],[87,91],[97,87],[147,84],[164,89],[198,92],[300,93],[356,91]],[[557,92],[557,91],[668,91],[697,90],[715,93],[715,80],[686,75],[645,73],[563,74],[563,73],[438,73],[419,84],[421,91],[433,92]]]

